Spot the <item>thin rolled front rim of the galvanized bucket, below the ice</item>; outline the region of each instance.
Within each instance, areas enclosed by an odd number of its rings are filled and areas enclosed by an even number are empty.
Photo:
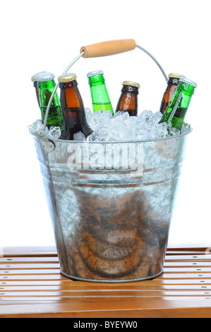
[[[174,135],[174,136],[165,136],[165,137],[160,137],[160,138],[150,138],[150,139],[143,139],[143,140],[125,140],[125,141],[73,141],[73,140],[64,140],[64,139],[60,139],[60,138],[48,138],[49,141],[52,142],[61,142],[61,143],[91,143],[91,144],[111,144],[111,143],[145,143],[145,142],[154,142],[154,141],[166,141],[169,139],[174,139],[174,138],[179,138],[182,136],[186,136],[188,134],[191,134],[191,132],[193,131],[193,128],[191,127],[191,129],[189,131],[186,131],[185,133],[179,134],[179,135]]]

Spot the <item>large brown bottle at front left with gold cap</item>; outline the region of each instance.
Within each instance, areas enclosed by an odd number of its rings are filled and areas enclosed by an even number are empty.
[[[73,140],[73,135],[81,132],[88,137],[92,129],[88,125],[83,100],[78,90],[75,73],[65,73],[59,76],[59,88],[61,89],[61,111],[64,119],[64,131],[61,139]]]

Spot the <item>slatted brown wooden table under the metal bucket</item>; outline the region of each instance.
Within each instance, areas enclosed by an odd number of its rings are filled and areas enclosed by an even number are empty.
[[[211,254],[168,249],[164,273],[135,283],[88,283],[59,273],[54,247],[4,248],[0,318],[211,317]]]

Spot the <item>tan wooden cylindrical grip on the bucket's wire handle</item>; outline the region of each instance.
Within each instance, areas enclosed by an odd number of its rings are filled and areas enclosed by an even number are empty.
[[[124,39],[98,42],[97,44],[83,46],[80,48],[80,53],[85,52],[85,54],[83,54],[84,58],[107,57],[108,55],[128,52],[132,49],[135,49],[135,40]]]

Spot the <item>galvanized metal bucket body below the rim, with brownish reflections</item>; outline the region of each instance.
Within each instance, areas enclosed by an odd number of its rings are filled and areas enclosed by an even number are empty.
[[[99,282],[163,272],[186,140],[55,140],[35,137],[61,273]]]

